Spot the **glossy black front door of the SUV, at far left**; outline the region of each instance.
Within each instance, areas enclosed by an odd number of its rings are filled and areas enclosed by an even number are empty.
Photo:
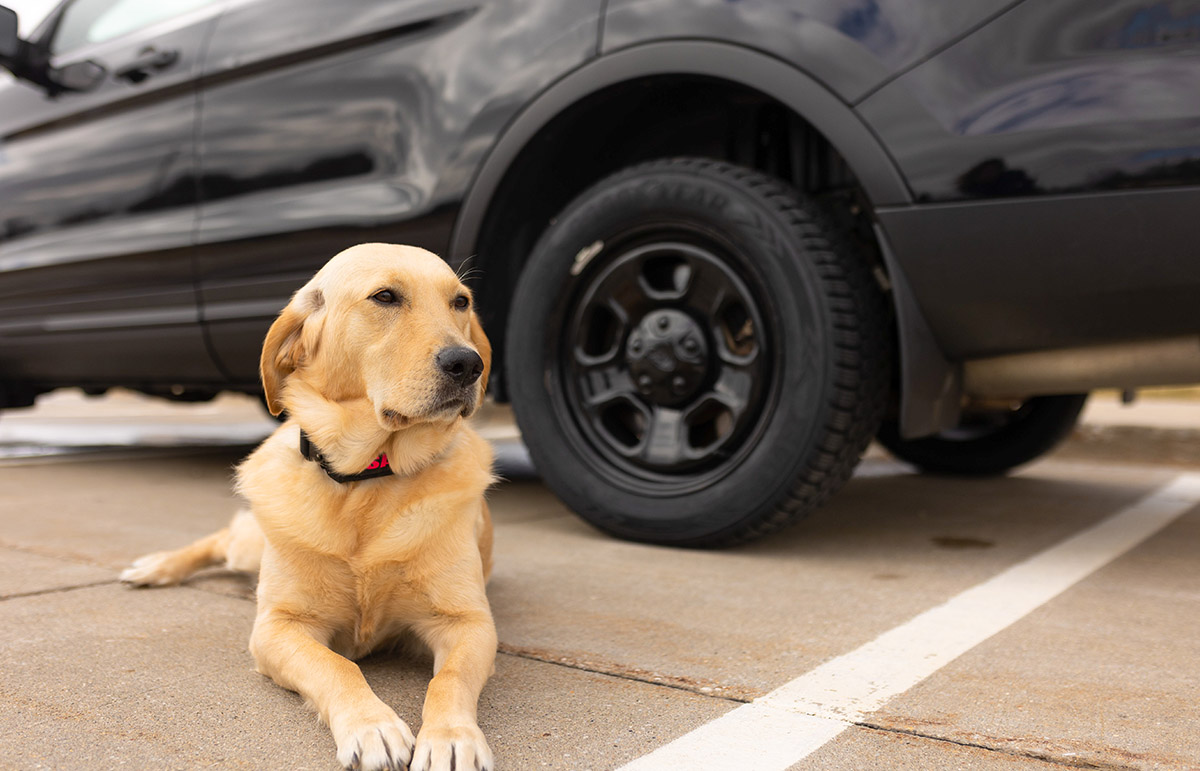
[[[212,382],[193,281],[196,91],[217,5],[68,0],[35,31],[79,90],[0,84],[0,377]]]

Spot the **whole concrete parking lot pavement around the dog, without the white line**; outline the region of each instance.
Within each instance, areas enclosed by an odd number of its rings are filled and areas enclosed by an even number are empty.
[[[246,448],[188,435],[178,406],[107,406],[65,395],[0,417],[0,769],[334,769],[328,731],[253,671],[248,581],[115,582],[224,524]],[[196,424],[270,429],[252,404],[217,407]],[[89,423],[122,425],[126,446],[56,443]],[[486,428],[512,438],[502,418]],[[1068,447],[964,482],[875,450],[797,527],[686,551],[595,532],[509,458],[491,497],[500,655],[480,703],[508,770],[617,769],[1195,471]],[[1193,509],[793,767],[1200,769],[1198,554]],[[428,668],[364,663],[414,727]]]

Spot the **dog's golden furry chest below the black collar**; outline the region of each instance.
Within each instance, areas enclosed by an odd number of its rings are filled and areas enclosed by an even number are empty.
[[[462,588],[479,570],[482,485],[469,473],[323,484],[298,498],[257,471],[244,472],[242,492],[269,544],[260,602],[319,618],[337,652],[358,658],[445,608],[480,604]]]

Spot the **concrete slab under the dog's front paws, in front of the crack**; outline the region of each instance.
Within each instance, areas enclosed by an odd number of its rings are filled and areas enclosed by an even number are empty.
[[[245,650],[252,616],[248,602],[197,588],[167,596],[107,585],[5,602],[0,767],[335,769],[329,731],[299,697],[253,671]],[[395,656],[364,663],[376,693],[413,725],[430,668]],[[504,767],[548,758],[557,767],[602,767],[727,709],[500,656],[480,725]]]

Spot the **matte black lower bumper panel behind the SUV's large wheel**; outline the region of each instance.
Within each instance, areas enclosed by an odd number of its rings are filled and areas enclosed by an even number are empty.
[[[1180,223],[1198,207],[1186,189],[878,216],[938,346],[964,360],[1196,331],[1200,259]]]

